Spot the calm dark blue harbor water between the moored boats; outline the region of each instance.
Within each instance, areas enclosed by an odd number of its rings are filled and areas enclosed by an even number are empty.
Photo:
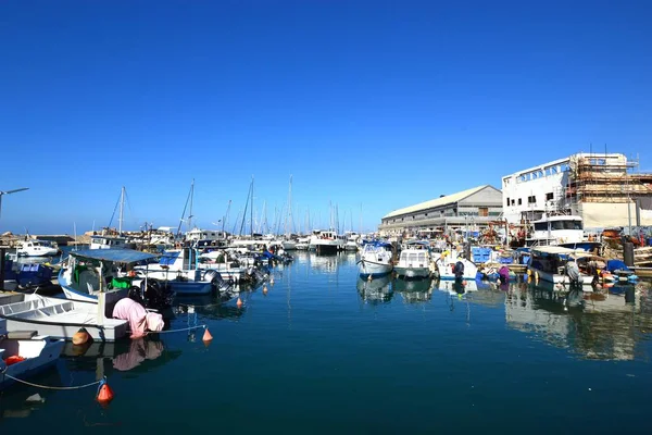
[[[555,296],[512,284],[359,279],[354,254],[297,253],[274,286],[235,301],[183,301],[187,332],[68,348],[0,396],[3,432],[615,433],[648,430],[652,291]],[[457,289],[459,290],[459,289]],[[27,403],[38,393],[40,402]]]

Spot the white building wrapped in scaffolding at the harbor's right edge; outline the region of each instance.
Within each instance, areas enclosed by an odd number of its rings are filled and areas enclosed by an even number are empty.
[[[577,153],[503,176],[503,216],[519,223],[562,212],[581,216],[585,228],[652,225],[652,176],[634,173],[637,164],[620,153]]]

